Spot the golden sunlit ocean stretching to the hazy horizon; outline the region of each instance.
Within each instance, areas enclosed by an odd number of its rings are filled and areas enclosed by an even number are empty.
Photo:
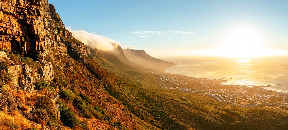
[[[171,60],[170,60],[171,61]],[[173,60],[172,60],[173,62]],[[272,89],[288,91],[288,58],[176,60],[166,73],[196,78],[227,80],[222,84],[273,85]]]

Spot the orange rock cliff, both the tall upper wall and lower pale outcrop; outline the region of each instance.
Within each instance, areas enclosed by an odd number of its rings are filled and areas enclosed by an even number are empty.
[[[0,3],[0,49],[28,55],[37,61],[32,71],[28,65],[15,64],[0,52],[0,60],[11,64],[12,84],[17,89],[31,91],[35,80],[52,80],[54,69],[46,57],[69,55],[84,62],[88,50],[65,29],[54,5],[48,0],[4,0]]]

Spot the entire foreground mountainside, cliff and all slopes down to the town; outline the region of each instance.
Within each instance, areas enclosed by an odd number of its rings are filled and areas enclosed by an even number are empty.
[[[145,66],[131,67],[120,46],[119,54],[98,52],[73,38],[46,0],[5,0],[0,5],[3,129],[287,128],[285,111],[243,109],[159,88],[159,77],[146,73]]]

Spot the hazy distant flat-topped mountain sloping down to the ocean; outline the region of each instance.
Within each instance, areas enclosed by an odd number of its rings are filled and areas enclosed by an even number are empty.
[[[167,62],[154,58],[148,55],[143,50],[124,49],[123,52],[128,58],[128,60],[130,60],[134,64],[160,72],[164,72],[164,70],[169,66],[176,65],[173,62]]]

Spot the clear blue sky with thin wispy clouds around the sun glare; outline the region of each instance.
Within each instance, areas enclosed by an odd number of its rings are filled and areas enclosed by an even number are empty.
[[[288,1],[49,0],[66,26],[94,32],[152,56],[225,46],[248,29],[261,46],[288,50]],[[172,53],[173,52],[173,53]]]

